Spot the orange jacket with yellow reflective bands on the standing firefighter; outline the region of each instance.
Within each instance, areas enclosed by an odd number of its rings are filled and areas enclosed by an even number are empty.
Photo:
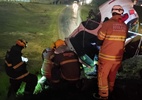
[[[102,24],[98,31],[98,39],[103,41],[99,58],[120,61],[123,57],[127,26],[120,15],[115,15]]]

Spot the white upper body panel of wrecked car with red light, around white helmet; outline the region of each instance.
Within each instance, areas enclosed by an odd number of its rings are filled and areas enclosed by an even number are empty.
[[[105,17],[112,17],[111,9],[114,5],[121,5],[124,9],[124,14],[127,13],[129,15],[129,18],[125,21],[126,24],[134,19],[138,19],[139,16],[133,8],[133,2],[131,0],[109,0],[99,7],[102,22]]]

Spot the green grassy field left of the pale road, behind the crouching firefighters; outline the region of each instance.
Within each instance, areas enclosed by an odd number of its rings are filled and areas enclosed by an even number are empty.
[[[58,17],[64,5],[0,2],[0,98],[5,100],[9,86],[4,71],[6,51],[19,38],[28,41],[23,50],[29,59],[28,70],[38,75],[42,64],[41,52],[59,38]],[[38,87],[38,86],[37,86]]]

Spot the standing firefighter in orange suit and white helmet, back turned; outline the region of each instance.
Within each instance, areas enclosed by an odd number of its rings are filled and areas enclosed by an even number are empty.
[[[93,96],[102,100],[107,100],[109,93],[113,91],[128,31],[122,17],[124,9],[120,5],[114,5],[111,12],[112,18],[104,22],[98,31],[97,44],[101,45],[98,60],[98,94],[94,93]]]

